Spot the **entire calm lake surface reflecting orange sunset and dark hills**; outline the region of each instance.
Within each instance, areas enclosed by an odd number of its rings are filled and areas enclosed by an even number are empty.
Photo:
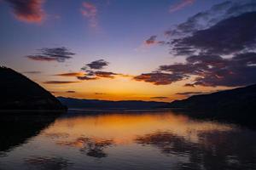
[[[4,116],[0,169],[256,169],[256,132],[172,111]]]

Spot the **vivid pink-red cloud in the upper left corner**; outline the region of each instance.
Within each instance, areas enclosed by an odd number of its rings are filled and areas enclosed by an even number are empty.
[[[29,23],[40,23],[44,20],[42,5],[44,0],[5,0],[14,10],[18,20]]]

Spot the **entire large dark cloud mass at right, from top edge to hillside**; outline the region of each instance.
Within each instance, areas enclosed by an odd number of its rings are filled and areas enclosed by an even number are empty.
[[[160,65],[137,81],[185,87],[237,87],[256,83],[256,3],[224,2],[166,31],[171,53],[183,63]]]

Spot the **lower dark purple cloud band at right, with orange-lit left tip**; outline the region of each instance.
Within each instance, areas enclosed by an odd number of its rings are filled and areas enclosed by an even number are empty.
[[[160,65],[157,72],[135,77],[137,81],[166,85],[194,76],[186,87],[226,86],[236,87],[256,82],[256,53],[235,54],[232,58],[219,55],[198,54],[186,59],[185,63]]]

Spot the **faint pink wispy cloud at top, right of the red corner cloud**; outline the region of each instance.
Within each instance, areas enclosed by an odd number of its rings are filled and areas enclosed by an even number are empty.
[[[89,20],[89,26],[96,28],[98,26],[97,13],[98,9],[93,3],[82,3],[81,14]]]

